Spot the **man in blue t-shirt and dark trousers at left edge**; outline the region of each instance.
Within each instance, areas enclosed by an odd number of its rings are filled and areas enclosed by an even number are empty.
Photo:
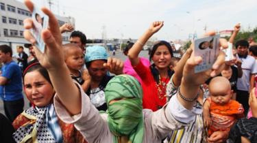
[[[22,74],[19,65],[12,60],[12,48],[0,45],[0,61],[3,63],[0,76],[0,97],[5,115],[12,122],[23,112]]]

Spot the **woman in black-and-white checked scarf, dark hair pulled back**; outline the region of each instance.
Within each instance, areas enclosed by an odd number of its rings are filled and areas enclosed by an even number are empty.
[[[16,142],[77,142],[86,143],[73,124],[62,122],[53,106],[55,91],[47,69],[39,63],[24,71],[24,91],[33,106],[12,123]]]

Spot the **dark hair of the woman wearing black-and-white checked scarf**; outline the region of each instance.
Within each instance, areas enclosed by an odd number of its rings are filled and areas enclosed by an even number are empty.
[[[31,65],[27,66],[27,68],[23,72],[23,81],[24,81],[24,77],[27,73],[34,72],[34,71],[38,71],[51,85],[53,85],[51,83],[47,69],[45,69],[45,67],[42,67],[42,65],[40,65],[40,63],[32,63]]]

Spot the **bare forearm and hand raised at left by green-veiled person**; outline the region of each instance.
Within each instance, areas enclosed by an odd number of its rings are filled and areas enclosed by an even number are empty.
[[[25,0],[25,5],[30,12],[33,12],[34,5],[31,1]],[[62,104],[66,107],[66,110],[68,110],[71,115],[79,114],[82,107],[80,91],[73,83],[71,76],[69,76],[69,69],[64,63],[62,36],[58,20],[46,7],[43,7],[41,10],[49,16],[49,29],[44,29],[41,33],[42,39],[46,44],[45,52],[42,53],[36,46],[33,47],[36,57],[40,64],[49,72],[53,88]],[[33,27],[31,18],[24,20],[24,27],[27,29],[24,33],[25,39],[35,45],[36,40],[32,36],[32,33],[29,32],[29,29]]]

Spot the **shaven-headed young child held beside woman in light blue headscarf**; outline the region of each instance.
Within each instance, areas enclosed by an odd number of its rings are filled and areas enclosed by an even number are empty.
[[[80,72],[84,65],[84,54],[75,44],[64,44],[64,61],[71,72],[71,78],[76,80],[86,92],[90,86],[90,76],[86,70]]]

